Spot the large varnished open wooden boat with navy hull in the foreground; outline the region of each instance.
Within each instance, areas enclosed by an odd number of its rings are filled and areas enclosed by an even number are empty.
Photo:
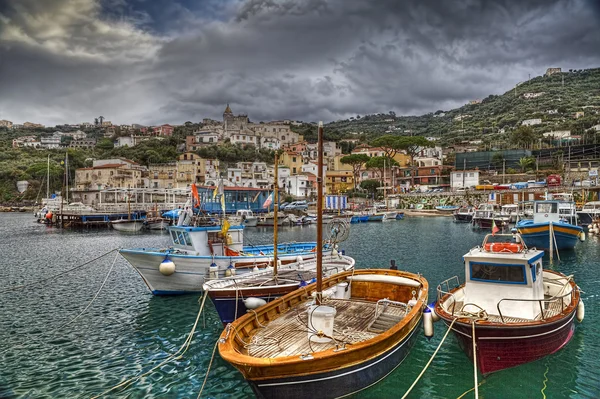
[[[334,398],[381,381],[416,340],[428,283],[413,273],[363,269],[323,279],[321,305],[310,306],[316,291],[317,284],[311,284],[287,294],[228,324],[221,334],[221,357],[259,398]],[[327,330],[331,319],[323,321],[322,330],[316,321],[308,323],[321,307],[335,309],[329,336],[319,331]],[[328,337],[329,342],[315,342]]]

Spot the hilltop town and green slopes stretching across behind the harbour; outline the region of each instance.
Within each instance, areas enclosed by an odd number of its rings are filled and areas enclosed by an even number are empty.
[[[600,96],[597,88],[588,90],[598,71],[549,68],[519,91],[447,112],[331,122],[325,129],[326,192],[376,196],[381,186],[397,193],[455,190],[453,170],[481,172],[482,179],[492,180],[500,174],[503,182],[551,173],[565,173],[569,183],[581,180],[599,166]],[[274,151],[281,154],[279,187],[293,198],[313,198],[315,132],[312,122],[253,122],[229,104],[220,120],[182,125],[117,125],[103,116],[54,128],[0,120],[6,150],[0,159],[1,200],[39,197],[47,175],[52,189],[61,190],[65,151],[72,195],[90,205],[110,189],[180,189],[218,181],[269,189]],[[516,177],[527,172],[536,174]]]

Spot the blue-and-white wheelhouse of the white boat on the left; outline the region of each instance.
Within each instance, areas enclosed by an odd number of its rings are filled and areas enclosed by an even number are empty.
[[[173,248],[193,255],[227,256],[244,247],[244,226],[230,226],[225,235],[221,226],[171,226],[169,234]]]

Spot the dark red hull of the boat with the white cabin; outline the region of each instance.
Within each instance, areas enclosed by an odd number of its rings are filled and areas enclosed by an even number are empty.
[[[477,368],[482,374],[516,367],[555,353],[564,347],[575,331],[575,310],[566,317],[536,326],[475,325]],[[451,319],[444,318],[446,325]],[[456,322],[452,327],[461,349],[472,360],[473,341],[470,323]]]

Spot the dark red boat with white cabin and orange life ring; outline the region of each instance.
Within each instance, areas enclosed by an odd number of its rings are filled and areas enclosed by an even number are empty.
[[[576,314],[583,319],[572,278],[544,270],[544,252],[521,241],[518,234],[488,234],[464,255],[465,283],[455,276],[437,287],[435,312],[483,374],[558,351],[573,336]]]

